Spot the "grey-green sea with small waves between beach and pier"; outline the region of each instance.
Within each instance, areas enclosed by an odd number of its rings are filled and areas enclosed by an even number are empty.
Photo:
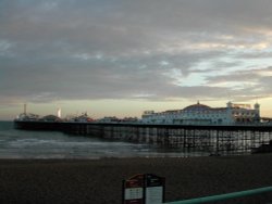
[[[57,131],[14,129],[12,122],[0,122],[0,158],[101,158],[184,157],[194,154],[148,144],[109,141],[95,137],[70,136]],[[195,154],[197,156],[197,154]]]

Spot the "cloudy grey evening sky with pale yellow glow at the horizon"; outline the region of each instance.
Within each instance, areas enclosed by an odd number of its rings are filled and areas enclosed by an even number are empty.
[[[0,119],[197,101],[272,116],[271,0],[0,0]]]

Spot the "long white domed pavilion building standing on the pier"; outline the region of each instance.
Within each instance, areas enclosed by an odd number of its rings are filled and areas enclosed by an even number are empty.
[[[145,111],[143,123],[182,124],[182,125],[233,125],[260,122],[260,105],[234,104],[228,102],[226,107],[210,107],[197,102],[183,110],[158,112]]]

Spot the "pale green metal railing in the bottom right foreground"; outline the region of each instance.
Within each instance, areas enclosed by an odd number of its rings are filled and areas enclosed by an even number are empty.
[[[199,204],[199,203],[207,203],[207,202],[225,201],[230,199],[243,197],[243,196],[255,195],[255,194],[267,193],[267,192],[272,192],[272,187],[264,187],[260,189],[252,189],[252,190],[239,191],[239,192],[233,192],[233,193],[226,193],[226,194],[220,194],[220,195],[211,195],[211,196],[205,196],[205,197],[198,197],[198,199],[191,199],[191,200],[175,201],[175,202],[170,202],[165,204]]]

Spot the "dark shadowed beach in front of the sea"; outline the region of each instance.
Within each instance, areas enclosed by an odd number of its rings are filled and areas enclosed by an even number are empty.
[[[272,186],[272,154],[101,160],[0,160],[0,203],[122,202],[122,180],[165,178],[165,202]],[[263,193],[230,203],[269,203]],[[227,202],[225,202],[227,203]]]

